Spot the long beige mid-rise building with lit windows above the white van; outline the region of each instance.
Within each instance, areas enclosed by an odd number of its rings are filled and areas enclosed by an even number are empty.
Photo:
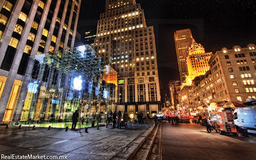
[[[235,45],[217,51],[209,60],[210,70],[192,85],[195,107],[205,102],[246,102],[256,97],[256,47]]]

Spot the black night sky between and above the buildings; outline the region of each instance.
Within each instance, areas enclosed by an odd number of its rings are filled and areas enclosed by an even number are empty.
[[[206,52],[256,43],[256,1],[246,0],[136,0],[144,9],[147,26],[155,27],[161,94],[168,81],[179,79],[174,32],[190,28]],[[96,28],[105,0],[82,0],[78,31]],[[202,29],[201,29],[201,28]],[[168,76],[166,76],[168,75]],[[162,96],[163,98],[163,96]]]

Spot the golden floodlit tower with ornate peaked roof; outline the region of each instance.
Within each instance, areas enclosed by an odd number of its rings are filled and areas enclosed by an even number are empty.
[[[187,56],[186,85],[191,85],[195,77],[204,75],[209,70],[208,61],[211,56],[212,52],[205,53],[204,47],[193,39]]]

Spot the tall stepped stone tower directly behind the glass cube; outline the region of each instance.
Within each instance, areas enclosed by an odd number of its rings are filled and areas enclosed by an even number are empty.
[[[118,72],[117,110],[131,117],[160,111],[160,87],[154,28],[147,27],[135,0],[106,0],[94,45]]]

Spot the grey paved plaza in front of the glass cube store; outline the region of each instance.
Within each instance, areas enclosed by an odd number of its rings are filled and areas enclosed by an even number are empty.
[[[65,129],[0,126],[0,154],[66,155],[68,159],[126,159],[154,124],[128,124],[128,129],[89,128],[89,133]],[[0,157],[1,158],[1,157]]]

